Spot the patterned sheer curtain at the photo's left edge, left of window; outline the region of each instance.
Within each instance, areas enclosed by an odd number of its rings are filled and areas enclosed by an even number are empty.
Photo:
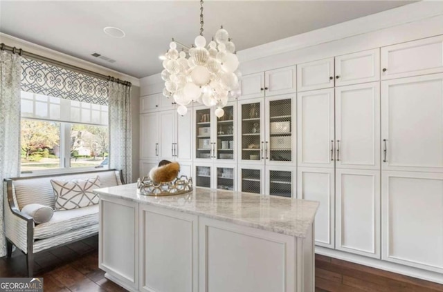
[[[0,54],[0,182],[20,174],[20,78],[21,57],[1,51]],[[0,197],[0,257],[6,255],[3,224],[3,203],[6,190]]]

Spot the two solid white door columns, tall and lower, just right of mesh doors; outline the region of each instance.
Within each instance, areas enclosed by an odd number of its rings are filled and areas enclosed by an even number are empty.
[[[335,101],[333,88],[298,93],[298,197],[322,202],[316,244],[371,257],[380,257],[379,96],[378,82],[335,88]]]

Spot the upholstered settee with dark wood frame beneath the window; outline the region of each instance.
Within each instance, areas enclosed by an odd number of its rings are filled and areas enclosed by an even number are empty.
[[[26,254],[28,277],[33,277],[34,253],[98,233],[98,204],[65,211],[54,211],[48,222],[35,224],[33,217],[21,212],[28,204],[42,204],[55,209],[55,195],[51,179],[88,179],[100,177],[100,187],[123,184],[121,172],[116,170],[69,173],[38,177],[5,179],[5,232],[8,256],[12,245]]]

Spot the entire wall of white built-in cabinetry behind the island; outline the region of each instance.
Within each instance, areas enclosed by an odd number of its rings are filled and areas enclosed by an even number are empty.
[[[169,99],[142,97],[142,173],[176,159],[210,167],[210,187],[316,200],[319,253],[443,273],[443,36],[287,65],[242,77],[232,122],[196,106],[179,122]]]

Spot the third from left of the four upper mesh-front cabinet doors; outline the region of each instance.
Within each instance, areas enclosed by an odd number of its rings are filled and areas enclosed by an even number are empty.
[[[253,99],[255,101],[255,99]],[[248,164],[264,162],[264,110],[263,103],[239,101],[240,143],[239,160]]]

